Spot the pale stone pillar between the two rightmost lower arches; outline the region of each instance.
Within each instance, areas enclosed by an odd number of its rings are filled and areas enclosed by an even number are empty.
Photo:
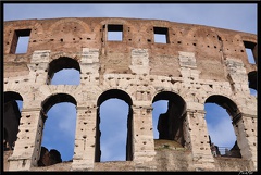
[[[214,159],[209,145],[209,134],[203,110],[187,110],[185,147],[191,150],[195,168],[214,170]]]

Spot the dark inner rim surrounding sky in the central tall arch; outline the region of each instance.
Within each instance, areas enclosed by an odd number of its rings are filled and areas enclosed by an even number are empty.
[[[97,124],[96,124],[96,148],[95,148],[95,161],[100,162],[101,150],[100,150],[100,105],[108,99],[117,98],[120,100],[125,101],[128,104],[128,116],[127,116],[127,139],[126,139],[126,161],[133,160],[133,100],[129,95],[120,89],[110,89],[104,91],[99,96],[97,100]]]

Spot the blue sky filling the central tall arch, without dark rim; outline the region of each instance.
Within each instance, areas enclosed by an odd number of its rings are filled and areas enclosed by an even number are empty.
[[[127,115],[123,100],[109,99],[100,105],[101,162],[126,161]]]

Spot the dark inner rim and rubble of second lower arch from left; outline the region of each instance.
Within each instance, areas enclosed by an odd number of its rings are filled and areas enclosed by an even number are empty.
[[[53,93],[53,95],[47,97],[41,102],[40,115],[41,115],[42,120],[39,122],[39,126],[42,126],[41,127],[42,129],[45,128],[45,123],[46,123],[46,120],[48,118],[48,116],[47,116],[48,111],[54,104],[61,103],[61,102],[70,102],[70,103],[75,104],[75,107],[77,107],[77,101],[75,100],[75,98],[72,97],[71,95],[67,95],[67,93]],[[44,136],[42,134],[44,134],[44,130],[41,132],[41,136],[40,136],[39,140],[42,140],[42,136]],[[47,166],[47,165],[52,165],[52,164],[62,162],[61,154],[58,150],[51,149],[50,152],[49,152],[46,147],[41,146],[41,141],[40,141],[40,145],[38,145],[38,147],[40,147],[40,148],[38,148],[38,150],[40,150],[40,152],[41,152],[41,154],[38,155],[39,158],[37,159],[38,160],[38,166]],[[51,154],[52,152],[55,152],[55,155],[52,155]],[[50,154],[50,155],[48,155],[48,159],[45,158],[46,154]]]

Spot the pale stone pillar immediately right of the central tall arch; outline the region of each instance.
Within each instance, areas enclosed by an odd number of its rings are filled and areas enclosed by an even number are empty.
[[[133,105],[134,162],[151,161],[156,154],[152,130],[152,108]]]

